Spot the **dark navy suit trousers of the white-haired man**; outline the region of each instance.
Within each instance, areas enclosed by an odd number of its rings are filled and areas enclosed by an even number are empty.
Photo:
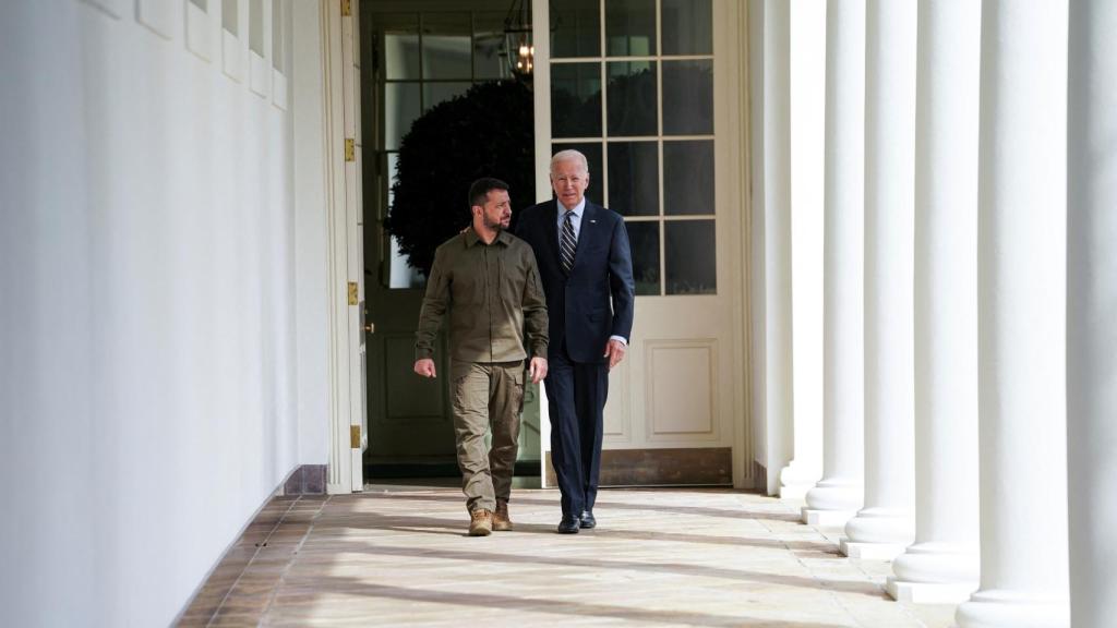
[[[560,346],[551,352],[544,383],[551,415],[551,464],[562,493],[562,512],[576,516],[592,511],[598,498],[609,367],[575,362],[565,346]]]

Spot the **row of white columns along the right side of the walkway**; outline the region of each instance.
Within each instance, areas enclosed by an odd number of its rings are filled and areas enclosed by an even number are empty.
[[[765,44],[786,41],[783,0],[762,1]],[[1117,2],[825,10],[823,473],[803,521],[844,525],[843,553],[892,560],[892,597],[960,603],[963,628],[1108,625]],[[765,111],[790,102],[768,76],[790,46],[764,47]],[[783,154],[789,116],[764,124]],[[785,251],[781,212],[764,238]],[[791,276],[790,255],[763,263]]]

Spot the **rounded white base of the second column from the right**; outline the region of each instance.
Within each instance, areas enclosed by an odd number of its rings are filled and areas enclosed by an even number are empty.
[[[1038,599],[1037,591],[982,590],[958,607],[958,628],[1069,628],[1070,600]]]

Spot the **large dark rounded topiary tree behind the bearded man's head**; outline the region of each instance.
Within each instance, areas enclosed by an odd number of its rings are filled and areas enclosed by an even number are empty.
[[[474,180],[504,180],[517,209],[534,203],[534,136],[532,92],[514,80],[474,85],[416,120],[400,143],[384,221],[409,266],[429,275],[435,249],[469,225]]]

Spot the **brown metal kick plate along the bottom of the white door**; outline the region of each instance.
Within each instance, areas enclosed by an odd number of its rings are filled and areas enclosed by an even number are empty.
[[[551,451],[547,486],[558,485]],[[601,453],[600,486],[733,486],[733,449],[607,449]]]

